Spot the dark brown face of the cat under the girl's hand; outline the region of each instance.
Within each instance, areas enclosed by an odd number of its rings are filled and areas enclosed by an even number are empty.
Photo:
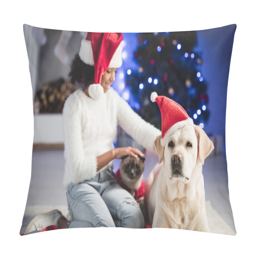
[[[123,156],[120,164],[120,172],[131,180],[139,179],[144,172],[145,158],[138,156]]]

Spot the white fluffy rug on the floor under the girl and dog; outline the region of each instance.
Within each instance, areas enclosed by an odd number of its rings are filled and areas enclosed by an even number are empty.
[[[205,202],[206,214],[208,218],[208,224],[211,233],[216,234],[223,234],[223,235],[232,235],[235,236],[236,232],[228,226],[228,224],[222,220],[218,212],[216,212],[210,203],[210,201]],[[59,205],[59,206],[51,206],[51,205],[44,205],[44,206],[28,206],[25,209],[25,214],[27,216],[35,216],[40,213],[50,212],[54,209],[58,209],[62,214],[70,220],[70,216],[68,213],[68,206],[66,205]]]

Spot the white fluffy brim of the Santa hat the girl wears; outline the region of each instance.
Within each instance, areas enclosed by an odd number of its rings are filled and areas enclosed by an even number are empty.
[[[122,44],[119,44],[116,52],[114,53],[108,68],[120,68],[122,66]],[[91,41],[86,40],[85,38],[81,42],[81,47],[79,50],[80,59],[88,65],[94,66],[93,53],[92,53],[92,44]]]

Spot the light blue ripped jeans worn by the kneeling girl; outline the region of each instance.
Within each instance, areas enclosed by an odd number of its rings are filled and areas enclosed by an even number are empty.
[[[144,228],[139,204],[119,186],[112,168],[90,180],[69,184],[66,194],[72,218],[67,228]]]

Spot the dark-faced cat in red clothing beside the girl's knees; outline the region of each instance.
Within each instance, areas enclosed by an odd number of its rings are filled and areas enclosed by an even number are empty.
[[[145,157],[123,156],[121,159],[119,170],[116,172],[116,180],[135,198],[144,214],[143,172]]]

